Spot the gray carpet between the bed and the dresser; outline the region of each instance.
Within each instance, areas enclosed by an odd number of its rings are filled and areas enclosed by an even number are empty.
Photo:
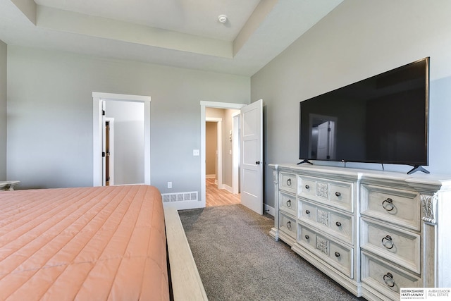
[[[179,211],[209,300],[363,300],[276,242],[242,205]]]

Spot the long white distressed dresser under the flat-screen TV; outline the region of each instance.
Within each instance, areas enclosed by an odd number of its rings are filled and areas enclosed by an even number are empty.
[[[271,236],[357,296],[451,287],[451,177],[270,164]]]

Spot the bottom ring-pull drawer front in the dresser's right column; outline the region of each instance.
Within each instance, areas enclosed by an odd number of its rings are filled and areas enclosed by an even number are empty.
[[[418,277],[393,264],[381,262],[366,252],[362,252],[362,282],[387,295],[392,300],[400,300],[400,288],[419,288]]]

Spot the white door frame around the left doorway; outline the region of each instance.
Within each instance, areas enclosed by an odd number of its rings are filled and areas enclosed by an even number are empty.
[[[92,185],[102,185],[102,102],[144,103],[144,184],[150,185],[150,100],[149,96],[92,92]]]

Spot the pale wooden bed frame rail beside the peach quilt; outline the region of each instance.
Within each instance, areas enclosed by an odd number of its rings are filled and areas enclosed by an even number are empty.
[[[175,301],[208,300],[177,209],[164,207],[164,220],[171,297]]]

